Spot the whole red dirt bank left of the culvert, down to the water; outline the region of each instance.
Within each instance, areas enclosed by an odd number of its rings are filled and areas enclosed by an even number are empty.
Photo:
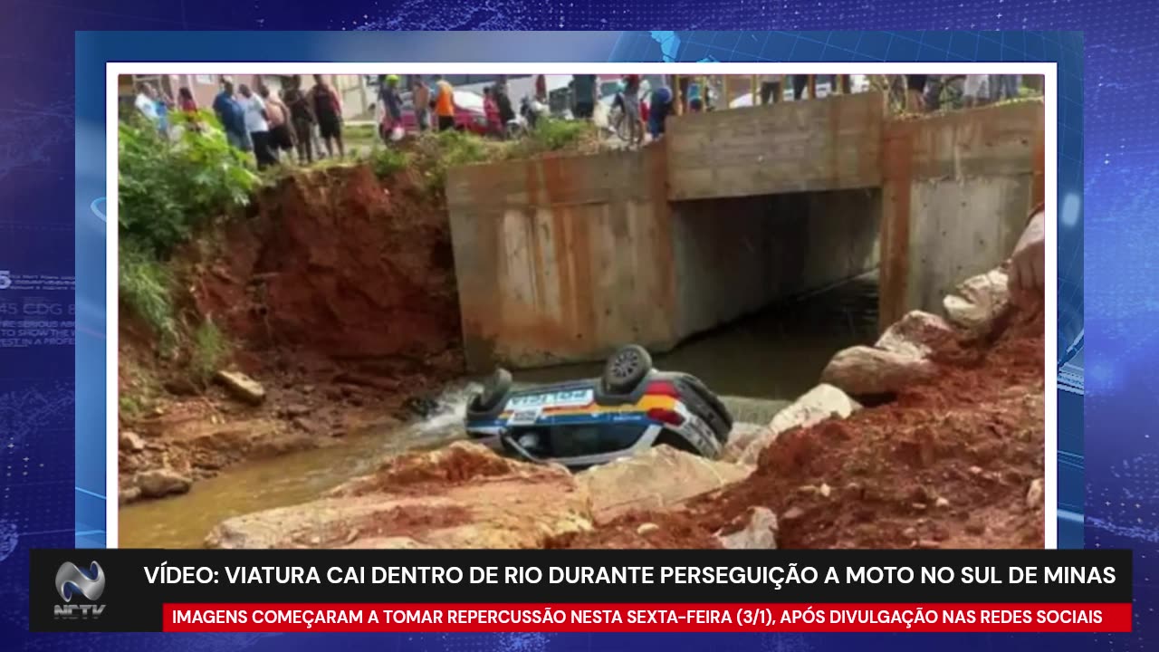
[[[185,321],[211,319],[231,345],[225,365],[260,382],[265,400],[255,407],[198,387],[183,361],[155,360],[152,338],[133,336],[133,320],[123,320],[123,394],[139,393],[143,374],[166,392],[123,422],[139,435],[122,443],[126,487],[137,471],[197,479],[326,445],[407,416],[408,399],[462,374],[438,194],[406,175],[380,181],[369,166],[335,166],[287,173],[249,212],[202,234],[175,268]]]

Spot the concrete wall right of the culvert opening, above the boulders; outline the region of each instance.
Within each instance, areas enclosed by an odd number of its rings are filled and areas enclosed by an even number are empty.
[[[1043,197],[1041,102],[887,123],[881,324],[1001,265]]]

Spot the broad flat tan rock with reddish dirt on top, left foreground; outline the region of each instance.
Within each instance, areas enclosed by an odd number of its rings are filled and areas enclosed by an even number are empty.
[[[457,442],[400,456],[320,500],[228,519],[211,548],[539,548],[588,530],[588,495],[566,469]]]

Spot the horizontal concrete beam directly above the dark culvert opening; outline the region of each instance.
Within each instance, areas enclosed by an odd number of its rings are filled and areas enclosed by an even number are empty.
[[[880,93],[671,118],[669,198],[881,186]]]

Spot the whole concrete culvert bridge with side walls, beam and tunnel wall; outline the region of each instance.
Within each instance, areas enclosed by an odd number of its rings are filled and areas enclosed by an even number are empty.
[[[888,119],[875,93],[673,117],[641,151],[452,169],[468,365],[654,352],[880,268],[882,325],[941,310],[1043,195],[1043,106]]]

